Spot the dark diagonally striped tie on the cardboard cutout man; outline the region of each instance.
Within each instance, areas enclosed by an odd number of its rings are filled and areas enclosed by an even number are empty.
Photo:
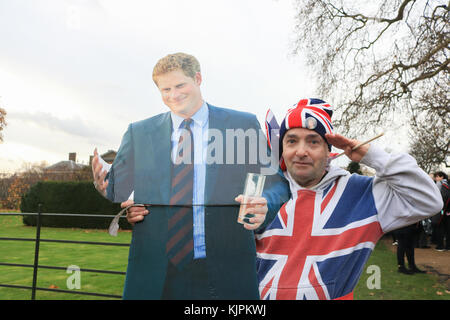
[[[177,155],[172,166],[172,192],[169,207],[166,253],[181,269],[194,256],[192,192],[194,181],[194,140],[192,119],[183,120]]]

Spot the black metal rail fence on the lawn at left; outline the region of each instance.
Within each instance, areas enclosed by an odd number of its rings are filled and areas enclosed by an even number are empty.
[[[86,215],[86,214],[68,214],[68,213],[42,213],[40,210],[37,213],[17,213],[17,212],[0,212],[0,216],[5,215],[19,215],[19,216],[37,216],[36,219],[36,237],[35,238],[12,238],[12,237],[0,237],[0,240],[4,241],[33,241],[35,242],[34,248],[34,262],[33,264],[18,264],[18,263],[8,263],[0,261],[0,266],[9,266],[9,267],[23,267],[23,268],[33,268],[33,279],[31,286],[19,286],[12,284],[3,284],[0,283],[0,287],[6,288],[14,288],[14,289],[28,289],[31,290],[31,300],[36,299],[36,291],[54,291],[61,293],[69,293],[69,294],[81,294],[88,296],[97,296],[97,297],[106,297],[106,298],[122,298],[120,295],[111,295],[111,294],[103,294],[96,292],[83,292],[79,290],[63,290],[58,288],[41,288],[37,286],[37,277],[39,269],[53,269],[53,270],[67,270],[65,267],[57,267],[57,266],[45,266],[39,265],[39,246],[41,242],[56,242],[56,243],[73,243],[73,244],[91,244],[91,245],[101,245],[101,246],[122,246],[128,247],[127,243],[115,243],[115,242],[95,242],[95,241],[70,241],[70,240],[56,240],[56,239],[41,239],[41,223],[43,216],[72,216],[72,217],[95,217],[95,218],[113,218],[113,215]],[[123,217],[122,217],[123,218]],[[110,270],[100,270],[100,269],[83,269],[80,268],[80,272],[94,272],[94,273],[107,273],[107,274],[118,274],[125,275],[125,272],[122,271],[110,271]]]

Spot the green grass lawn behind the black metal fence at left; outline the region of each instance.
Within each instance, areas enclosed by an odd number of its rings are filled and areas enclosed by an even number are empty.
[[[22,217],[0,216],[0,237],[34,238],[35,236],[36,228],[23,225]],[[112,237],[106,230],[44,227],[41,228],[41,239],[130,243],[131,232],[119,232],[117,237]],[[0,241],[0,262],[32,265],[34,248],[35,243],[31,241],[2,240]],[[37,287],[69,290],[67,280],[72,273],[67,273],[66,269],[70,265],[76,265],[81,269],[125,271],[127,258],[128,247],[41,242],[39,265],[58,266],[65,269],[39,268]],[[31,286],[32,279],[33,268],[0,266],[1,284]],[[120,274],[81,271],[81,288],[79,290],[73,289],[73,291],[121,296],[124,279],[125,276]],[[31,299],[31,290],[0,287],[0,299],[29,300]],[[92,300],[108,298],[37,290],[36,299]]]

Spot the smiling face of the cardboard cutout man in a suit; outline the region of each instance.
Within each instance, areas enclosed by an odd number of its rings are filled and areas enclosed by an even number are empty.
[[[202,106],[201,82],[202,77],[199,72],[193,79],[186,76],[182,70],[171,71],[156,78],[164,104],[173,113],[183,118],[191,117]]]

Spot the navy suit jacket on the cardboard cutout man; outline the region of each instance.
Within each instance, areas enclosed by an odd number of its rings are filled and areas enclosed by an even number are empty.
[[[209,104],[208,108],[209,129],[219,130],[224,139],[226,129],[260,130],[252,114]],[[125,201],[134,190],[135,203],[169,203],[171,133],[170,112],[129,125],[108,176],[110,200]],[[230,150],[226,150],[224,142],[223,163],[206,165],[206,261],[219,299],[259,299],[254,235],[236,222],[239,206],[234,201],[243,192],[246,173],[260,172],[259,163],[248,164],[251,151],[246,146],[247,163],[236,164],[236,144],[235,162],[226,164],[226,152]],[[271,217],[289,199],[286,182],[278,183],[276,189],[281,196],[274,193],[269,197]],[[150,207],[149,214],[133,228],[124,299],[161,298],[168,263],[167,210],[167,206]]]

